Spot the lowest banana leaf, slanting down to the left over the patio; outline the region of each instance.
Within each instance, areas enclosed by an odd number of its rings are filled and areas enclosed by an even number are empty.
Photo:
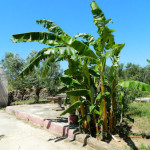
[[[74,112],[74,109],[78,108],[83,102],[82,101],[76,101],[73,103],[70,107],[68,107],[65,111],[63,111],[60,116],[65,115],[67,113]]]

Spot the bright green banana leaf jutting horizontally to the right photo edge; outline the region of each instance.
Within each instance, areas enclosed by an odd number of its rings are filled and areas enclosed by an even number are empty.
[[[143,82],[139,82],[139,81],[123,81],[123,82],[119,82],[118,86],[126,87],[126,88],[133,88],[133,89],[139,88],[141,90],[150,92],[150,85],[143,83]]]

